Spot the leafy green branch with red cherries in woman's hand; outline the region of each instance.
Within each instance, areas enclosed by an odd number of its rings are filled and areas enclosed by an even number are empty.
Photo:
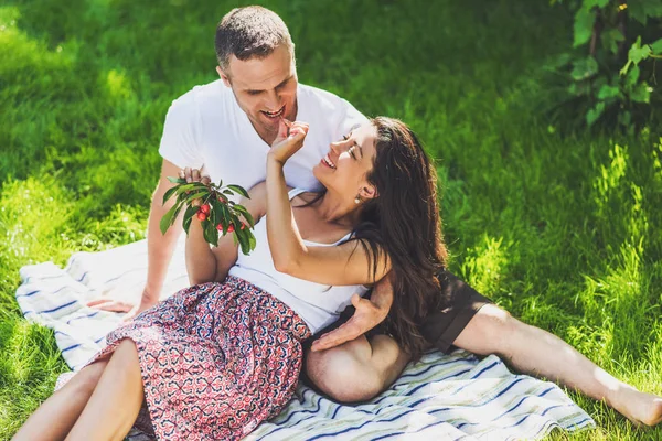
[[[223,186],[223,181],[216,185],[202,182],[188,183],[181,178],[168,176],[168,180],[175,185],[163,195],[163,205],[172,197],[177,197],[177,201],[159,223],[162,234],[166,234],[181,211],[185,208],[182,226],[186,235],[193,216],[196,216],[202,225],[203,237],[209,244],[217,247],[218,235],[225,236],[232,233],[235,245],[239,245],[243,254],[248,255],[255,249],[255,236],[252,232],[255,220],[246,207],[229,198],[234,194],[250,198],[246,190],[239,185]]]

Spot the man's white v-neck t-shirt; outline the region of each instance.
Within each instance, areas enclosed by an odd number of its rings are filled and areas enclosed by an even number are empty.
[[[285,164],[292,187],[318,190],[312,168],[328,153],[329,143],[367,119],[346,100],[299,84],[297,120],[310,125],[303,147]],[[266,176],[269,146],[257,135],[232,89],[221,79],[195,86],[170,106],[159,153],[184,168],[204,164],[214,183],[249,190]]]

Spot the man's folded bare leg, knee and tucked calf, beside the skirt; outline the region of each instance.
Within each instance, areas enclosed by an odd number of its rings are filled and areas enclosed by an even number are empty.
[[[306,373],[338,401],[366,401],[393,384],[408,361],[393,338],[376,335],[369,342],[362,335],[331,349],[308,352]]]

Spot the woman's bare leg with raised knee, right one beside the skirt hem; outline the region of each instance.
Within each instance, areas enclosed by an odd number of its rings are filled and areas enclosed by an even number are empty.
[[[143,400],[138,351],[131,340],[117,346],[67,440],[122,440]]]

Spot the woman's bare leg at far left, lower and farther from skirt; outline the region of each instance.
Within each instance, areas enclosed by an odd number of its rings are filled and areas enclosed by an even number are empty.
[[[63,440],[87,405],[107,361],[83,368],[30,416],[13,441]]]

